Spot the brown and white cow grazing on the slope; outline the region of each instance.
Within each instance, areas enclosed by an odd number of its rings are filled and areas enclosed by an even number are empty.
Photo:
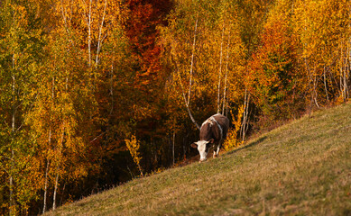
[[[217,113],[204,121],[200,128],[200,140],[191,144],[192,148],[198,148],[200,160],[205,161],[208,156],[208,150],[213,146],[213,157],[217,157],[222,143],[226,139],[226,133],[229,129],[229,120],[226,116]],[[217,145],[217,150],[216,150]]]

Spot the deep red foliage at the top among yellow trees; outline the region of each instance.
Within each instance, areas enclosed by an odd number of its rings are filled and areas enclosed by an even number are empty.
[[[126,4],[130,9],[126,35],[132,44],[134,58],[138,59],[137,85],[143,88],[160,78],[161,47],[156,43],[159,36],[156,27],[166,24],[164,18],[171,11],[172,3],[170,0],[129,0]]]

